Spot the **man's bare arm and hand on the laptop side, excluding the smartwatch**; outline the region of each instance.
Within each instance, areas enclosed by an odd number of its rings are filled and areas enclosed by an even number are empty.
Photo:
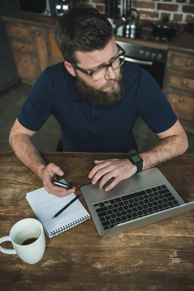
[[[140,154],[144,161],[143,170],[171,160],[183,154],[188,148],[187,135],[179,121],[170,129],[157,135],[161,141],[147,152]],[[95,161],[95,163],[97,165],[88,176],[92,178],[93,184],[103,177],[99,183],[99,186],[103,187],[109,179],[114,178],[113,182],[105,188],[105,191],[111,190],[118,182],[131,177],[137,171],[137,166],[133,165],[129,159],[111,159]]]

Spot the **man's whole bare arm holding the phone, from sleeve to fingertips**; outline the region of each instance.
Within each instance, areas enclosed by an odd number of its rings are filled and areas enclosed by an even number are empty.
[[[36,176],[43,180],[45,190],[47,190],[49,194],[63,197],[75,192],[75,187],[66,190],[64,188],[54,186],[51,183],[51,179],[54,178],[56,174],[63,176],[64,173],[60,167],[54,163],[49,163],[49,165],[46,164],[40,156],[37,148],[32,143],[31,138],[34,133],[35,131],[26,129],[16,119],[9,137],[10,146],[15,152],[16,157]]]

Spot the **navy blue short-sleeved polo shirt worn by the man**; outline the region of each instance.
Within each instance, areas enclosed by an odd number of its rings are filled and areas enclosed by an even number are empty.
[[[136,148],[133,126],[139,116],[155,133],[171,128],[177,116],[159,85],[144,69],[124,64],[125,96],[111,106],[93,106],[75,85],[64,62],[49,66],[34,83],[17,118],[38,131],[51,114],[61,126],[64,151],[128,152]]]

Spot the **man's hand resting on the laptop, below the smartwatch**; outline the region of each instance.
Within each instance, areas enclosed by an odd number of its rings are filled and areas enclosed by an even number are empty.
[[[96,184],[96,182],[103,176],[99,183],[99,186],[103,187],[108,180],[114,178],[113,182],[105,188],[105,191],[113,189],[118,182],[131,177],[137,172],[137,167],[128,159],[96,160],[95,163],[97,165],[88,175],[89,178],[92,178],[92,184]]]

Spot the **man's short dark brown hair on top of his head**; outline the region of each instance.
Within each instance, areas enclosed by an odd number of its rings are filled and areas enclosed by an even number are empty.
[[[76,7],[61,17],[55,40],[64,59],[79,64],[76,51],[103,49],[113,38],[113,27],[106,16],[93,7]]]

